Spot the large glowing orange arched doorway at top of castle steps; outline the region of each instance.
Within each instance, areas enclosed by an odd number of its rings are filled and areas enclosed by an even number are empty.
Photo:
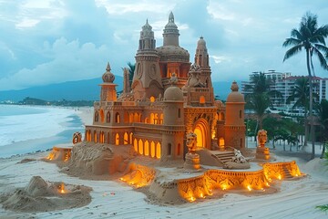
[[[210,149],[210,126],[207,120],[197,120],[193,132],[197,135],[197,147]]]

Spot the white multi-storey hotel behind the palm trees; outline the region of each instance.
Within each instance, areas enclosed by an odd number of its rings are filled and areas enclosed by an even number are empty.
[[[251,91],[246,90],[247,85],[251,85],[251,76],[259,72],[253,72],[250,75],[249,81],[241,81],[241,93],[244,95],[249,94]],[[304,76],[292,76],[291,73],[276,72],[275,70],[269,70],[269,72],[264,72],[266,78],[270,78],[272,84],[270,89],[278,90],[282,93],[282,99],[278,97],[272,97],[272,110],[283,111],[292,115],[303,115],[304,109],[302,107],[292,108],[297,99],[292,100],[287,103],[287,99],[292,95],[292,90],[295,87],[295,82],[298,78],[303,78]],[[313,93],[318,95],[315,102],[321,102],[322,99],[328,99],[328,78],[313,77]]]

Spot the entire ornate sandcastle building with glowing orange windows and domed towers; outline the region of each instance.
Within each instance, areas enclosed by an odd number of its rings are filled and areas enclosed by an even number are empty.
[[[133,145],[138,154],[162,161],[184,159],[190,132],[196,133],[199,148],[244,149],[245,102],[237,83],[232,83],[226,105],[214,99],[206,42],[201,36],[191,65],[189,52],[179,46],[172,13],[161,47],[156,47],[148,20],[142,26],[132,83],[127,69],[123,76],[123,93],[117,98],[108,63],[85,141]]]

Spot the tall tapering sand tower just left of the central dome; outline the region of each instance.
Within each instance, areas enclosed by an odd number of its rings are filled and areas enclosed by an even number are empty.
[[[157,98],[159,94],[163,94],[159,71],[159,54],[155,47],[154,32],[147,20],[140,31],[136,69],[131,86],[135,99]]]

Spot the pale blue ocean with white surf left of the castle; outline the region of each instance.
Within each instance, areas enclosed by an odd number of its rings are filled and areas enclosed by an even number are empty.
[[[45,151],[84,132],[72,108],[0,105],[0,157]]]

